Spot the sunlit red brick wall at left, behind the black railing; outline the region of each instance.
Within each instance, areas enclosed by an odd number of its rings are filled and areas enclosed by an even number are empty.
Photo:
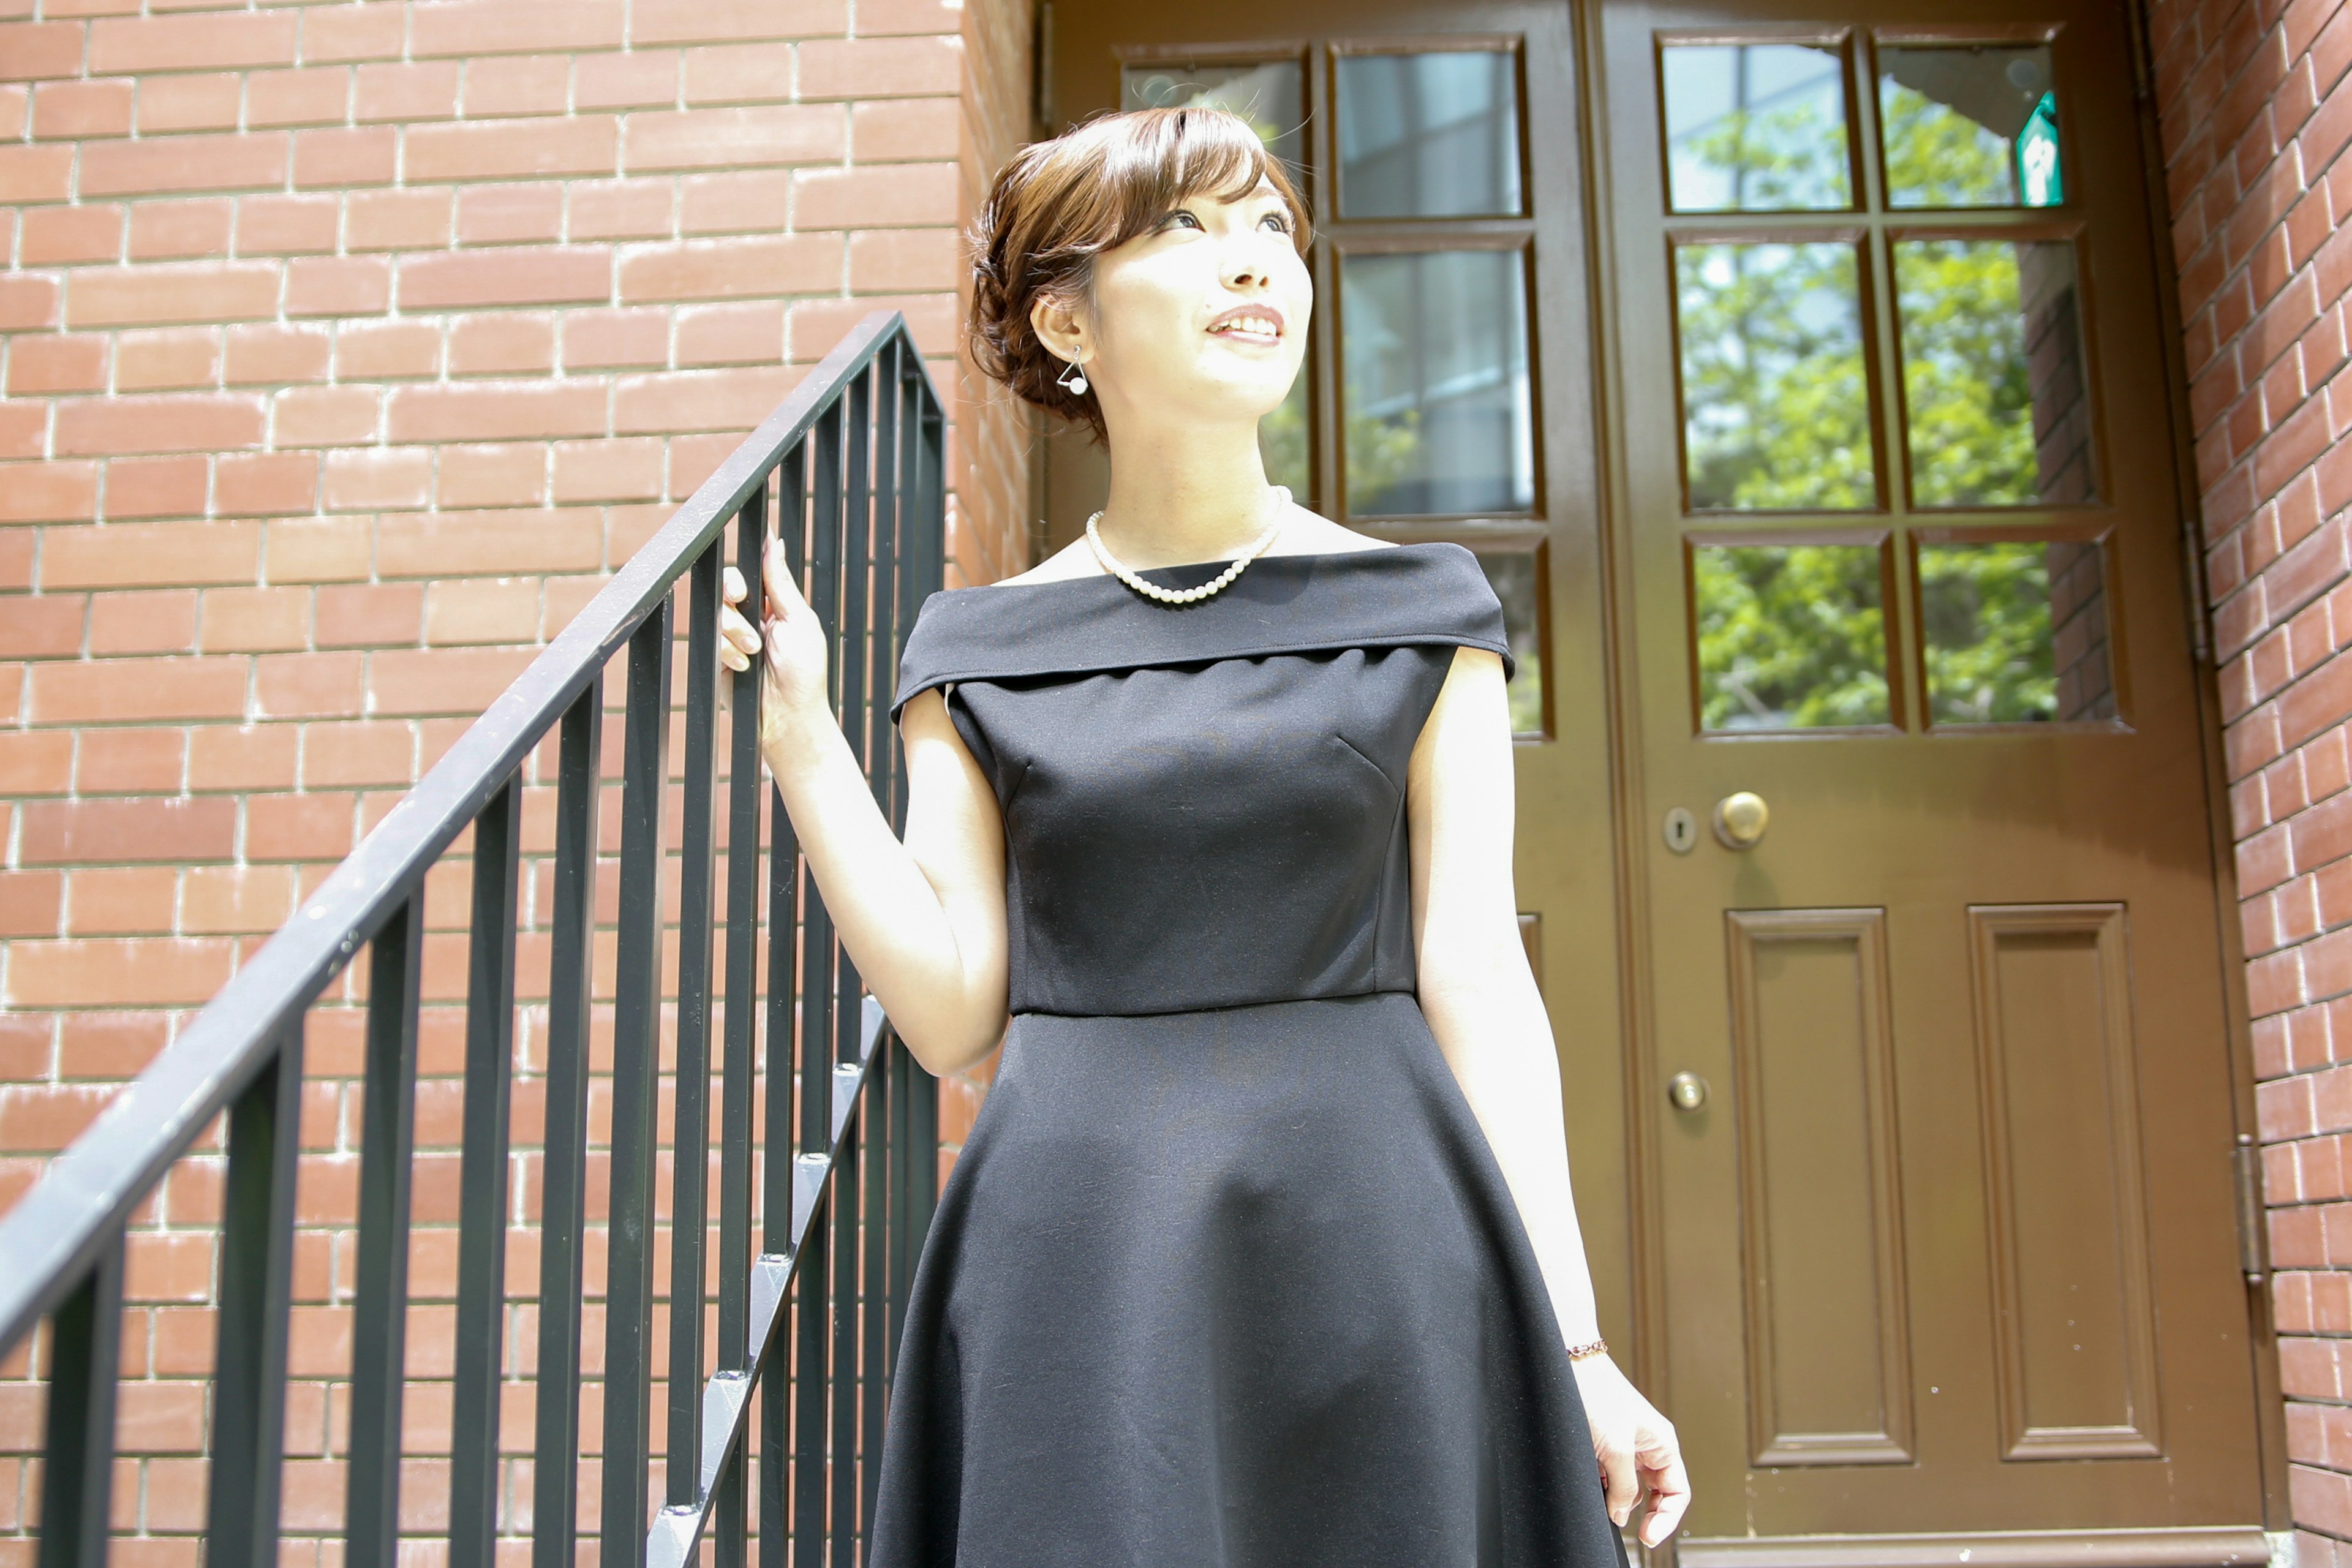
[[[1028,421],[955,320],[1028,40],[1025,0],[0,0],[0,1204],[863,313],[903,308],[955,404],[950,581],[1025,564]],[[461,898],[433,919],[449,952]],[[303,1530],[339,1523],[348,1023],[313,1030]],[[216,1185],[186,1161],[134,1241],[134,1563],[195,1561]],[[447,1378],[445,1309],[412,1335]],[[35,1413],[0,1387],[0,1448]],[[409,1427],[445,1453],[445,1382]],[[26,1507],[0,1460],[0,1530]]]

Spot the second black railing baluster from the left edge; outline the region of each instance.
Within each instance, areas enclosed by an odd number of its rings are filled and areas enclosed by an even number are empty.
[[[214,1340],[205,1561],[275,1568],[294,1298],[294,1171],[301,1161],[301,1020],[228,1107],[221,1314]]]

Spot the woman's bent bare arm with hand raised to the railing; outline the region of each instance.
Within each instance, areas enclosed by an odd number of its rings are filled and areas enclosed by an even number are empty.
[[[858,978],[929,1072],[960,1072],[1004,1037],[1004,823],[995,790],[936,689],[901,715],[906,839],[875,804],[826,696],[826,628],[769,545],[762,630],[734,609],[727,571],[720,656],[760,661],[760,757],[809,858]]]

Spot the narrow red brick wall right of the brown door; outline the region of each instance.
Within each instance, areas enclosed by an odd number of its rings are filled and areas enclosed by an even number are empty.
[[[2291,1500],[2352,1561],[2352,14],[2152,0]]]

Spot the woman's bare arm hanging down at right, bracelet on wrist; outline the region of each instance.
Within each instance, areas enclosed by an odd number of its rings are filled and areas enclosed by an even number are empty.
[[[1519,943],[1515,795],[1503,661],[1456,649],[1406,769],[1421,1011],[1503,1166],[1559,1331],[1581,1345],[1599,1338],[1599,1314],[1569,1190],[1559,1056]],[[1656,1547],[1689,1505],[1675,1427],[1606,1354],[1573,1366],[1609,1516],[1625,1523],[1646,1495],[1642,1542]]]

